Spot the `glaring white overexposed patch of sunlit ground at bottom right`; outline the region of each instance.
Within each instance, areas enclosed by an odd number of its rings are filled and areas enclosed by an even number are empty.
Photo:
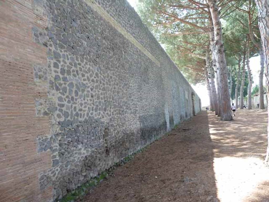
[[[214,171],[221,202],[246,201],[260,183],[269,180],[268,168],[261,159],[253,157],[215,158]]]

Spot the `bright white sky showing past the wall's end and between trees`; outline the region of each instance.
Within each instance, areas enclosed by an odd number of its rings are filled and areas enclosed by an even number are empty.
[[[131,6],[136,10],[136,5],[138,3],[138,0],[127,0]],[[256,85],[259,85],[259,69],[260,69],[260,56],[252,57],[249,60],[250,69],[252,70],[253,75],[253,87]],[[263,83],[265,83],[265,77],[263,78]],[[198,94],[198,96],[201,99],[202,106],[208,106],[209,105],[209,97],[206,85],[192,85],[195,92]]]

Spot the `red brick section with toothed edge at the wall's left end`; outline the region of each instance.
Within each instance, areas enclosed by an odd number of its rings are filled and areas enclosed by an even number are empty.
[[[32,27],[46,18],[31,0],[0,1],[0,201],[50,201],[38,175],[51,168],[50,152],[37,153],[37,136],[49,134],[49,118],[37,117],[35,99],[46,88],[34,82],[35,64],[47,64],[46,47],[34,42]]]

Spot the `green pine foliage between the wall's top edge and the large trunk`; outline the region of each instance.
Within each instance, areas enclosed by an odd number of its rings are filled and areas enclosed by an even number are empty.
[[[209,43],[204,30],[207,15],[186,6],[193,7],[176,0],[140,0],[138,12],[186,79],[193,84],[203,83],[205,63],[201,57],[206,56]]]

